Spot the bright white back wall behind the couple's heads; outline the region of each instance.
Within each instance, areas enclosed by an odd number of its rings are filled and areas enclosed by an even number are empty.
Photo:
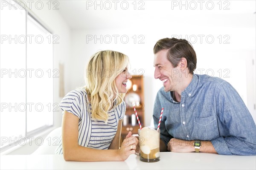
[[[250,19],[255,19],[255,16]],[[252,21],[248,21],[252,22]],[[136,27],[136,26],[134,26]],[[235,26],[202,26],[197,23],[195,25],[187,28],[186,22],[176,27],[161,27],[157,28],[152,26],[151,29],[145,29],[136,27],[134,28],[119,28],[119,29],[73,29],[71,33],[72,45],[71,45],[71,55],[72,61],[71,65],[74,65],[73,69],[70,70],[70,74],[76,75],[70,77],[70,90],[75,89],[81,85],[84,85],[84,66],[87,63],[89,57],[98,50],[116,50],[120,51],[130,57],[131,60],[131,70],[130,72],[134,74],[134,69],[143,69],[144,71],[144,92],[145,92],[145,126],[150,125],[150,120],[152,117],[153,105],[155,95],[159,88],[162,87],[160,80],[154,79],[154,67],[153,67],[153,47],[157,40],[164,37],[173,37],[174,35],[182,35],[181,38],[186,38],[186,35],[190,37],[190,40],[194,42],[192,45],[195,48],[198,58],[197,69],[205,69],[202,74],[207,74],[207,70],[214,71],[215,77],[221,77],[230,82],[239,92],[241,97],[244,99],[247,107],[249,108],[254,120],[255,120],[255,89],[253,84],[255,84],[255,79],[253,80],[253,68],[252,59],[255,61],[255,28],[237,28]],[[91,37],[98,38],[96,41]],[[100,38],[102,35],[102,38]],[[114,37],[117,35],[117,41],[115,43]],[[127,43],[120,40],[121,36],[129,38]],[[142,35],[145,39],[142,41],[144,44],[134,43],[133,36],[139,37]],[[204,35],[202,43],[198,35]],[[221,35],[222,43],[219,43]],[[224,35],[228,35],[230,39],[227,41],[229,44],[224,44]],[[104,39],[105,36],[105,39]],[[214,41],[209,43],[211,39],[207,40],[205,37],[214,37]],[[112,37],[112,42],[110,42],[109,37]],[[193,37],[198,37],[195,42]],[[90,38],[88,40],[88,38]],[[108,38],[108,39],[107,39]],[[102,42],[101,42],[102,40]],[[139,39],[137,39],[139,40]],[[141,40],[141,39],[140,39]],[[246,42],[246,43],[244,43]],[[254,53],[254,54],[253,54]],[[244,65],[242,65],[244,63]],[[220,75],[221,69],[221,75]],[[228,69],[230,72],[225,78],[224,69]],[[208,71],[208,74],[212,74]],[[219,71],[219,72],[218,72]],[[199,73],[199,71],[198,71]],[[245,83],[247,82],[247,83]]]

